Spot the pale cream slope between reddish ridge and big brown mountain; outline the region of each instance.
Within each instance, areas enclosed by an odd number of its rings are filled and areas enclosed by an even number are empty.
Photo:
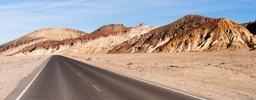
[[[97,40],[92,40],[83,44],[76,44],[66,50],[61,51],[60,55],[81,55],[81,54],[103,54],[112,50],[115,45],[118,45],[134,36],[142,35],[150,30],[158,28],[157,26],[147,26],[142,23],[134,28],[127,28],[115,36],[103,37]],[[98,29],[99,30],[99,29]]]

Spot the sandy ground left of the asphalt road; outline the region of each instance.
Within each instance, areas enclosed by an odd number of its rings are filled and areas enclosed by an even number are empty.
[[[18,83],[30,75],[47,56],[0,56],[0,100],[7,97]]]

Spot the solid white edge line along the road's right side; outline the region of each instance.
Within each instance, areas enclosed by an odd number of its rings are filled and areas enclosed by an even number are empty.
[[[71,58],[71,59],[72,59],[72,58]],[[86,63],[86,62],[84,62],[84,63]],[[89,64],[89,63],[86,63],[86,64]],[[92,64],[89,64],[89,65],[92,65]],[[93,65],[93,66],[96,66],[96,65]],[[96,66],[96,67],[99,67],[99,66]],[[106,68],[103,68],[103,67],[99,67],[99,68],[102,68],[102,69],[105,69],[105,70],[109,70],[109,69],[106,69]],[[109,71],[115,72],[115,71],[113,71],[113,70],[109,70]],[[120,74],[120,75],[124,75],[124,74],[121,74],[121,73],[119,73],[119,72],[115,72],[115,73]],[[127,76],[127,77],[130,77],[130,78],[139,80],[139,79],[137,79],[137,78],[134,78],[134,77],[131,77],[131,76],[128,76],[128,75],[124,75],[124,76]],[[142,82],[147,82],[147,81],[144,81],[144,80],[140,80],[140,81],[142,81]],[[147,83],[152,84],[152,85],[156,85],[156,84],[151,83],[151,82],[147,82]],[[170,89],[170,88],[167,88],[167,87],[163,87],[163,86],[160,86],[160,85],[156,85],[156,86],[159,86],[159,87],[162,87],[162,88],[165,88],[165,89],[168,89],[168,90],[172,90],[172,91],[175,91],[175,92],[179,92],[179,93],[182,93],[182,94],[184,94],[184,95],[188,95],[188,96],[191,96],[191,97],[195,97],[195,98],[198,98],[198,99],[201,99],[201,100],[206,100],[206,99],[203,99],[203,98],[200,98],[200,97],[196,97],[196,96],[194,96],[194,95],[190,95],[190,94],[187,94],[187,93],[184,93],[184,92],[180,92],[180,91],[177,91],[177,90],[173,90],[173,89]]]

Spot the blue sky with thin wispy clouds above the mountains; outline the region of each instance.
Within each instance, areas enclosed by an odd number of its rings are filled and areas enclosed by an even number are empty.
[[[1,0],[0,45],[42,28],[163,26],[185,15],[256,20],[256,0]]]

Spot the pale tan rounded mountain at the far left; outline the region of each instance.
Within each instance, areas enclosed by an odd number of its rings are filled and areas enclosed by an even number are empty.
[[[60,41],[76,38],[88,33],[71,28],[46,28],[36,30],[13,41],[0,45],[0,55],[13,55],[24,50],[31,50],[32,45],[41,45],[46,41]]]

